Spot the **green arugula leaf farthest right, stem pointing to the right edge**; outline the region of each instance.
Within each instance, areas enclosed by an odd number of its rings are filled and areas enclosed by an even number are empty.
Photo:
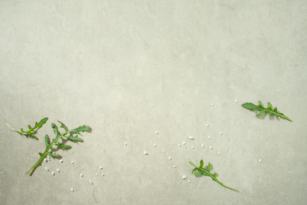
[[[277,111],[277,107],[272,109],[272,104],[270,102],[268,102],[268,107],[267,108],[264,108],[262,106],[261,101],[258,102],[258,106],[256,104],[253,104],[253,103],[243,103],[242,107],[245,107],[245,108],[248,108],[248,109],[252,109],[253,111],[259,110],[260,112],[256,115],[256,117],[259,117],[264,112],[266,112],[267,114],[274,115],[274,116],[279,116],[279,117],[282,117],[282,118],[287,119],[287,120],[292,122],[292,120],[290,118],[288,118],[284,114],[278,112]]]

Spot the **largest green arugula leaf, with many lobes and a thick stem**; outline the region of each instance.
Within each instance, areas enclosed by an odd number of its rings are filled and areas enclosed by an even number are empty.
[[[41,163],[41,161],[44,159],[44,157],[46,155],[53,156],[53,157],[59,156],[59,154],[52,154],[50,152],[50,150],[51,150],[53,145],[57,146],[57,147],[59,147],[61,149],[70,149],[70,148],[72,148],[72,146],[70,146],[70,145],[65,145],[65,144],[58,143],[59,139],[67,138],[68,140],[71,140],[71,141],[76,143],[76,141],[82,141],[82,139],[79,138],[78,135],[73,136],[72,134],[80,134],[80,132],[87,131],[87,130],[90,129],[89,126],[83,125],[83,126],[79,126],[78,128],[74,128],[74,129],[69,130],[62,122],[60,122],[60,121],[58,121],[58,122],[61,124],[60,128],[63,128],[65,130],[65,132],[63,132],[61,134],[59,132],[59,130],[58,130],[58,127],[54,123],[51,123],[51,127],[53,129],[54,134],[55,134],[55,138],[53,138],[52,141],[50,141],[50,138],[49,138],[48,134],[45,135],[46,150],[43,153],[39,153],[40,158],[31,167],[31,169],[29,169],[29,171],[26,172],[26,174],[29,174],[35,167],[37,167]]]

